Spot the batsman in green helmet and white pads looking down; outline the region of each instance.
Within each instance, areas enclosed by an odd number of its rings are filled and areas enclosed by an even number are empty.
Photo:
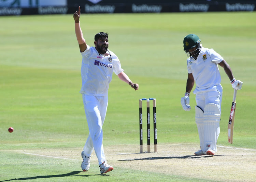
[[[200,139],[200,150],[195,155],[214,155],[217,152],[219,122],[221,120],[222,86],[218,65],[230,79],[233,89],[240,90],[243,82],[236,80],[228,63],[213,49],[202,47],[201,40],[195,34],[185,36],[183,40],[187,59],[187,85],[181,105],[185,111],[190,110],[189,95],[196,94],[196,125]]]

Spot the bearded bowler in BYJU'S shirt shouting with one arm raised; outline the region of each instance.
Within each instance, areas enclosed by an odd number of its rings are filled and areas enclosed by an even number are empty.
[[[139,89],[138,84],[133,84],[130,78],[123,72],[118,57],[111,52],[109,47],[109,36],[107,33],[100,32],[94,37],[95,47],[86,44],[80,27],[81,11],[73,15],[75,20],[75,35],[82,55],[81,77],[84,111],[89,128],[89,136],[81,153],[83,171],[90,168],[90,156],[93,150],[98,158],[100,173],[106,173],[114,168],[106,161],[103,150],[103,131],[102,126],[108,107],[108,89],[112,80],[113,72],[118,78],[129,84],[134,90]],[[103,27],[102,27],[103,28]]]

